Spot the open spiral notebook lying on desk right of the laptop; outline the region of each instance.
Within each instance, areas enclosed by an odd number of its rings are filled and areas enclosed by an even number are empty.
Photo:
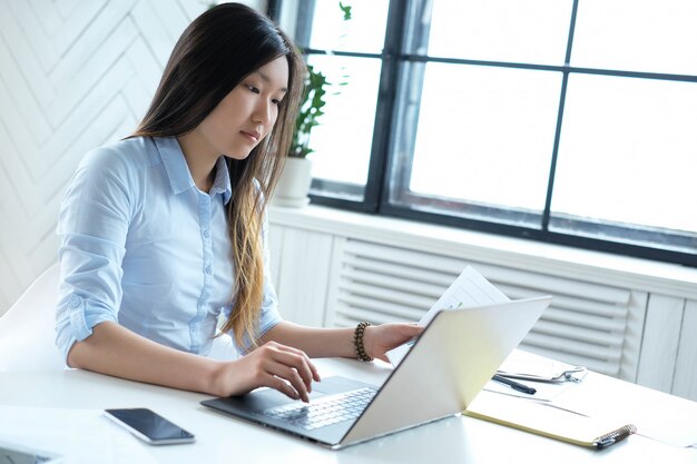
[[[637,432],[624,421],[589,417],[549,404],[488,392],[478,395],[463,414],[598,450]]]

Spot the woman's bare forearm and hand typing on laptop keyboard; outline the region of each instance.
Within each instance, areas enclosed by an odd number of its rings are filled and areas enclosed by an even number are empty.
[[[223,362],[179,352],[112,323],[98,324],[92,335],[76,342],[68,364],[131,381],[229,396],[258,386],[308,401],[316,368],[296,348],[268,343],[240,359]]]

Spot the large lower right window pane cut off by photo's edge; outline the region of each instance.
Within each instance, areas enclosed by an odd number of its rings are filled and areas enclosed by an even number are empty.
[[[571,75],[552,215],[697,233],[697,83]]]

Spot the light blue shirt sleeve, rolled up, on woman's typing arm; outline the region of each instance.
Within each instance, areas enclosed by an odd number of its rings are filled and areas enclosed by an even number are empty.
[[[56,344],[67,359],[77,340],[117,320],[121,261],[131,217],[129,168],[108,149],[88,154],[72,177],[58,220],[60,285]]]

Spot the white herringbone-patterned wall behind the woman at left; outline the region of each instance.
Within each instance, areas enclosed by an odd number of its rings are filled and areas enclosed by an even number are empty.
[[[77,162],[135,129],[176,39],[209,3],[0,0],[0,315],[57,259]]]

